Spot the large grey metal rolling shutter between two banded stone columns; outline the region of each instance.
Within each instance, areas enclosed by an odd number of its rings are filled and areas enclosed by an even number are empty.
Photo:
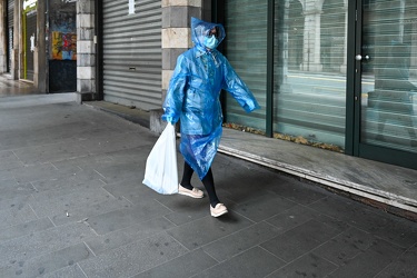
[[[103,97],[142,110],[161,107],[161,1],[103,0]]]

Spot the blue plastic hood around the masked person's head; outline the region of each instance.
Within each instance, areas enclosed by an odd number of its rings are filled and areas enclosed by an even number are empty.
[[[205,38],[209,36],[211,29],[216,28],[218,44],[225,39],[226,32],[222,24],[206,22],[197,18],[191,18],[191,40],[197,48],[205,50]],[[217,46],[218,46],[217,44]]]

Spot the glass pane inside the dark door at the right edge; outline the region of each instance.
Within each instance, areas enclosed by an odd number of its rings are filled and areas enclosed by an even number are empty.
[[[417,152],[417,1],[364,4],[361,142]]]

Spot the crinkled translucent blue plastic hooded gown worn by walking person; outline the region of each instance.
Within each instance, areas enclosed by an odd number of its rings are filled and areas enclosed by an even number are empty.
[[[180,152],[200,179],[207,175],[220,142],[221,89],[230,92],[247,112],[259,108],[229,61],[218,50],[205,47],[205,38],[214,28],[220,43],[226,36],[221,24],[191,19],[195,46],[178,57],[162,107],[162,120],[180,120]]]

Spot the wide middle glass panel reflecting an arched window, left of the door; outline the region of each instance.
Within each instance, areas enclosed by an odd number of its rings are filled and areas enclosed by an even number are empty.
[[[341,151],[347,1],[317,2],[276,1],[274,131]]]

